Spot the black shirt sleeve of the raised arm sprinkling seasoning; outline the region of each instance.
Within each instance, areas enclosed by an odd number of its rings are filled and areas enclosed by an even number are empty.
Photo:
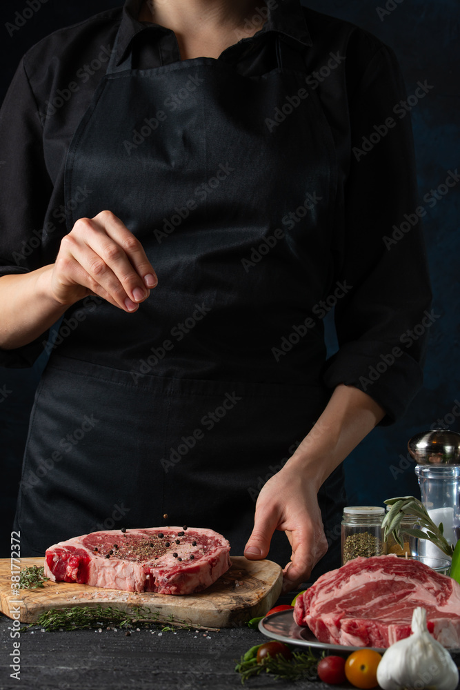
[[[43,221],[52,183],[43,154],[43,130],[24,59],[0,110],[0,276],[43,266]],[[14,350],[0,350],[0,365],[32,366],[46,333]]]

